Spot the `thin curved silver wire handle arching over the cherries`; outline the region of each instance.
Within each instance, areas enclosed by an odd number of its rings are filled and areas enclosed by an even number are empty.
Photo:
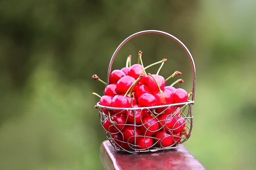
[[[146,31],[140,31],[140,32],[137,32],[137,33],[134,33],[132,35],[130,35],[129,37],[127,37],[123,42],[121,42],[121,44],[117,47],[117,49],[115,50],[115,52],[113,53],[111,59],[110,59],[110,63],[109,63],[109,66],[108,66],[108,79],[107,79],[107,82],[109,84],[109,76],[110,76],[110,73],[111,73],[111,69],[112,69],[112,64],[114,62],[114,59],[117,55],[117,52],[121,49],[121,47],[126,44],[127,41],[129,41],[130,39],[132,39],[133,37],[137,37],[138,35],[142,35],[142,34],[148,34],[148,33],[155,33],[155,34],[162,34],[162,35],[166,35],[167,37],[170,37],[171,39],[175,40],[177,43],[179,43],[183,48],[184,50],[186,51],[186,53],[189,55],[189,59],[191,61],[191,64],[192,64],[192,68],[193,68],[193,89],[192,89],[192,92],[193,92],[193,95],[192,95],[192,101],[194,101],[194,98],[195,98],[195,63],[194,63],[194,60],[193,60],[193,57],[191,55],[191,53],[189,52],[189,49],[186,48],[186,46],[182,43],[182,41],[180,41],[179,39],[177,39],[176,37],[174,37],[173,35],[169,34],[169,33],[166,33],[164,31],[158,31],[158,30],[146,30]]]

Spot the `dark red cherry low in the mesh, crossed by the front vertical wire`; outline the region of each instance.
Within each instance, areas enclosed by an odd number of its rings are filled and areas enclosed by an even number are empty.
[[[140,135],[139,129],[135,128],[135,135],[134,135],[134,126],[126,126],[123,131],[124,134],[124,141],[129,142],[130,144],[134,143],[135,137],[136,141],[138,140],[138,136]]]

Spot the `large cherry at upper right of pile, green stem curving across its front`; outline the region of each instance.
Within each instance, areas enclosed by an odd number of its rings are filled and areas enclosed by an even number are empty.
[[[156,74],[152,74],[152,76],[156,79],[159,87],[161,90],[164,89],[164,86],[165,86],[165,79],[163,76],[160,76],[160,75],[156,75]],[[158,92],[159,89],[157,87],[157,84],[155,83],[155,80],[151,77],[151,76],[148,76],[149,78],[147,78],[148,80],[148,87],[150,90],[152,90],[153,92]]]

